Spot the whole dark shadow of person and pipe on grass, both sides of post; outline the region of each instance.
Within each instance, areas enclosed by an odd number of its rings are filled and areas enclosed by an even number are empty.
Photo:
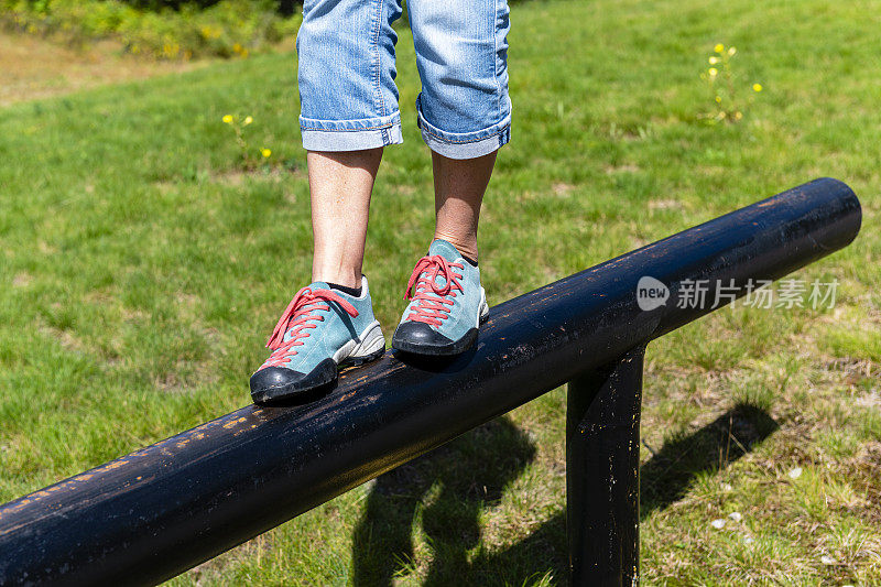
[[[692,434],[668,439],[642,465],[640,518],[682,499],[697,475],[727,467],[776,428],[766,412],[741,404]],[[500,499],[534,452],[522,432],[500,418],[380,477],[355,533],[355,585],[385,587],[395,575],[409,573],[420,511],[433,550],[423,585],[524,585],[545,576],[565,581],[565,512],[509,548],[480,550],[467,559],[480,542],[481,508]],[[435,483],[437,497],[423,508]]]

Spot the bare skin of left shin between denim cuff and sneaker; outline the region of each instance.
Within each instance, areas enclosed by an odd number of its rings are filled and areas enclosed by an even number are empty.
[[[365,151],[309,151],[312,281],[358,287],[365,259],[370,193],[382,148]]]

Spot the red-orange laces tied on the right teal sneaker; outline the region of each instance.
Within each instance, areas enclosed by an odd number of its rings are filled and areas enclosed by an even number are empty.
[[[464,293],[458,281],[461,275],[454,272],[454,269],[465,268],[461,263],[450,263],[439,254],[425,256],[418,260],[404,293],[406,300],[416,301],[406,319],[440,326],[440,320],[449,317],[450,308],[447,306],[452,307],[455,302],[446,296],[452,294],[456,297],[456,291]],[[444,285],[437,284],[437,275],[444,278]]]

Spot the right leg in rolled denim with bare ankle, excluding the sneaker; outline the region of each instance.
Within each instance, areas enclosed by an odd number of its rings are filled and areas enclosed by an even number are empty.
[[[422,91],[416,112],[434,164],[435,238],[477,260],[480,203],[511,138],[507,0],[411,0]]]

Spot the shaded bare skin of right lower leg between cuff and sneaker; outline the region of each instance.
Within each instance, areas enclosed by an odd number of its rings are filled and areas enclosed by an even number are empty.
[[[448,159],[432,151],[436,227],[434,238],[452,242],[477,261],[477,222],[496,152],[476,159]]]

